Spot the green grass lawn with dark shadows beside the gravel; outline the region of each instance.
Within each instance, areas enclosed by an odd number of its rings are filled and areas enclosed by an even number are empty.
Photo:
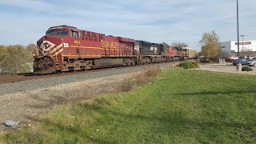
[[[256,76],[164,70],[122,94],[57,106],[18,143],[255,143]]]

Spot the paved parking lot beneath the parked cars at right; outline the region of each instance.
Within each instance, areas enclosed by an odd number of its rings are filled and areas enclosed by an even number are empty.
[[[205,64],[200,65],[201,70],[218,71],[226,73],[238,73],[238,74],[256,74],[256,67],[249,66],[253,71],[237,71],[236,66],[232,63],[220,63],[220,64]]]

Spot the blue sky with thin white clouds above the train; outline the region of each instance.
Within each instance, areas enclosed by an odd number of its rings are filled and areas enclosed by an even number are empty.
[[[240,34],[256,39],[256,1],[239,0]],[[36,43],[50,26],[69,25],[148,42],[186,42],[202,34],[237,39],[236,0],[1,0],[0,45]]]

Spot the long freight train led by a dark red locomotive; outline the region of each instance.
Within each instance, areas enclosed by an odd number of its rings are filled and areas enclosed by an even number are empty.
[[[89,70],[114,66],[133,66],[197,58],[188,48],[136,41],[79,30],[74,26],[53,26],[37,42],[34,73]]]

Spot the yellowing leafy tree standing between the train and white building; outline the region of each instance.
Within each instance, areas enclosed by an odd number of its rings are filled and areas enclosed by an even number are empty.
[[[201,44],[202,54],[210,60],[217,60],[218,55],[221,52],[221,43],[218,34],[215,31],[210,33],[203,33]]]

